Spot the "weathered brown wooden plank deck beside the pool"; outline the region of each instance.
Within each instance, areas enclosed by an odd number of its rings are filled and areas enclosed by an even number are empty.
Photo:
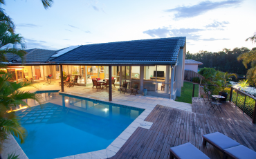
[[[219,131],[256,151],[256,125],[240,109],[229,102],[223,112],[208,112],[201,98],[192,99],[192,111],[156,106],[145,119],[154,122],[147,130],[138,128],[113,158],[169,158],[170,147],[185,142],[194,144],[209,158],[222,158],[221,152],[210,144],[202,145],[202,135]]]

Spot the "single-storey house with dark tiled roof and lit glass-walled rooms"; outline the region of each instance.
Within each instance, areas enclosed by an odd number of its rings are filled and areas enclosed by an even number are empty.
[[[129,82],[129,88],[138,83],[139,93],[147,88],[147,95],[175,100],[181,95],[183,86],[185,40],[185,37],[171,37],[119,41],[71,46],[57,51],[48,50],[47,53],[41,49],[29,50],[23,66],[16,59],[10,61],[10,67],[24,67],[25,73],[26,66],[30,66],[28,76],[31,74],[37,80],[50,73],[53,79],[58,79],[63,72],[71,77],[79,75],[78,82],[86,86],[92,86],[92,79],[96,77],[109,79],[111,85],[111,77],[114,77],[115,84],[119,86],[124,81]],[[61,87],[64,91],[63,83]],[[112,100],[111,86],[109,100]]]

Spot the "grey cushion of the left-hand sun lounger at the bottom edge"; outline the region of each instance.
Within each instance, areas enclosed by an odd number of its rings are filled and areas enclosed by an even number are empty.
[[[181,144],[176,147],[171,147],[170,151],[177,157],[182,159],[200,158],[200,159],[210,159],[199,149],[194,147],[190,142]]]

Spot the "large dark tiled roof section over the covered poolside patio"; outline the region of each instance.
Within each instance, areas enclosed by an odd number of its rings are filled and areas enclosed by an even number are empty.
[[[175,64],[185,37],[82,45],[51,62],[77,64]]]

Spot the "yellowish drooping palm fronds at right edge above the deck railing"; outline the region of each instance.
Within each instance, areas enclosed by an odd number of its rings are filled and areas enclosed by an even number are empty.
[[[253,37],[248,37],[246,41],[252,41],[253,43],[256,43],[256,32],[254,33]],[[250,82],[250,84],[256,84],[256,50],[252,49],[251,51],[247,53],[243,53],[237,57],[238,61],[243,62],[244,66],[247,68],[247,65],[250,64],[251,68],[248,69],[246,73],[246,78]]]

